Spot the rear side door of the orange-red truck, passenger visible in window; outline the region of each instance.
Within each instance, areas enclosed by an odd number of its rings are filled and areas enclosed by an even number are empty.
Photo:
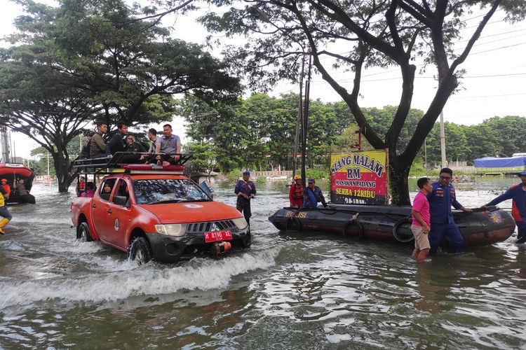
[[[113,211],[110,200],[116,182],[117,179],[105,179],[97,189],[91,204],[93,226],[100,240],[104,242],[111,242],[110,237],[113,235]]]

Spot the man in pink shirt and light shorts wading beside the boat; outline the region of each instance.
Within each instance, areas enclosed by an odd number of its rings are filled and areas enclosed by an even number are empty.
[[[429,215],[429,202],[427,201],[426,195],[431,193],[433,186],[428,178],[423,177],[418,179],[417,185],[419,193],[414,197],[413,207],[411,209],[412,214],[412,225],[411,231],[414,235],[414,251],[412,257],[417,261],[424,261],[429,254],[431,245],[427,234],[431,228],[431,216]]]

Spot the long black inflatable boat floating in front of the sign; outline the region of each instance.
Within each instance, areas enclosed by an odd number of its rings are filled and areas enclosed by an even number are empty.
[[[380,239],[407,243],[413,240],[411,207],[332,204],[331,209],[279,209],[269,221],[283,231],[334,232],[339,237]],[[497,207],[453,211],[464,235],[464,246],[482,246],[504,241],[513,234],[511,214]],[[443,246],[445,241],[443,241]]]

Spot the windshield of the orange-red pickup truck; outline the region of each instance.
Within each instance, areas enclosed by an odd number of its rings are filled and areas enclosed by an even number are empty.
[[[133,193],[137,204],[208,202],[210,198],[191,180],[134,180]]]

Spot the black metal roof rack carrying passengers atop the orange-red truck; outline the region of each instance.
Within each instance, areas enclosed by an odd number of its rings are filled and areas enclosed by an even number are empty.
[[[141,155],[147,155],[146,158],[140,160]],[[171,155],[178,155],[179,159],[175,164],[168,167],[156,165],[156,157],[161,156],[161,161],[168,160]],[[182,153],[144,153],[144,152],[116,152],[112,158],[88,158],[75,160],[73,168],[79,174],[102,175],[114,174],[116,169],[123,169],[123,172],[133,172],[137,174],[147,172],[147,174],[154,174],[158,172],[177,172],[182,174],[184,171],[184,163],[186,163],[193,155]],[[129,167],[129,165],[144,165],[144,167]],[[147,166],[149,165],[149,167]],[[135,169],[134,169],[135,168]],[[142,169],[140,169],[142,168]]]

